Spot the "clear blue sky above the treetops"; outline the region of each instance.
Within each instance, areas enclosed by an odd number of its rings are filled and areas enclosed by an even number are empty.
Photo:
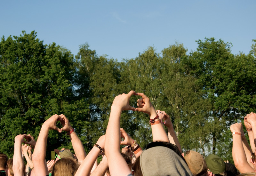
[[[148,46],[161,52],[175,41],[195,51],[195,40],[215,37],[248,54],[256,39],[256,1],[129,0],[0,1],[0,36],[37,32],[76,55],[88,43],[98,55],[135,58]]]

